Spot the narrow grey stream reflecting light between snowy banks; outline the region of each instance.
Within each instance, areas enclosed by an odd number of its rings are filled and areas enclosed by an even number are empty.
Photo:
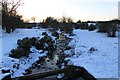
[[[61,62],[65,59],[64,49],[69,44],[69,41],[65,38],[56,40],[56,50],[53,52],[52,57],[45,57],[42,61],[39,61],[39,64],[32,69],[32,73],[43,73],[46,71],[58,70],[62,66],[57,64],[58,61]],[[57,78],[56,75],[50,76],[49,78]]]

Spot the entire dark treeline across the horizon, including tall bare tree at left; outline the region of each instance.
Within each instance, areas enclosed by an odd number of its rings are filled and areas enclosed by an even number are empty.
[[[36,24],[38,27],[47,28],[50,31],[60,30],[65,33],[73,35],[73,29],[86,29],[93,31],[98,29],[98,32],[107,33],[110,37],[115,37],[115,32],[120,28],[120,20],[111,21],[86,21],[78,20],[73,22],[71,17],[63,16],[56,19],[54,17],[47,17],[40,23],[27,23],[22,20],[22,16],[18,14],[17,8],[21,5],[21,0],[15,2],[14,0],[2,0],[2,28],[11,33],[15,28],[32,28]]]

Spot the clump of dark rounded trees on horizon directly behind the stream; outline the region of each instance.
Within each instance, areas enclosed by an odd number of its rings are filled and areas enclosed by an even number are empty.
[[[40,23],[40,26],[42,28],[48,28],[51,31],[60,30],[72,35],[74,22],[70,17],[62,17],[61,19],[47,17]]]

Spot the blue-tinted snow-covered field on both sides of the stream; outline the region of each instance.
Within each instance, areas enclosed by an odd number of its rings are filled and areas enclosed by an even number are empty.
[[[12,68],[12,64],[19,62],[18,59],[8,57],[10,50],[17,47],[17,40],[24,37],[42,37],[43,29],[17,29],[11,34],[2,31],[2,68]],[[107,37],[106,34],[96,31],[74,30],[76,36],[72,41],[75,44],[75,56],[70,60],[74,65],[85,67],[96,78],[116,78],[118,77],[118,38]],[[73,44],[72,43],[72,44]],[[96,51],[89,52],[94,47]],[[21,65],[13,77],[21,76],[33,62],[38,59],[39,54],[32,53],[33,57],[26,65]],[[14,62],[12,62],[14,60]],[[0,63],[1,64],[1,63]],[[0,79],[2,78],[0,72]]]

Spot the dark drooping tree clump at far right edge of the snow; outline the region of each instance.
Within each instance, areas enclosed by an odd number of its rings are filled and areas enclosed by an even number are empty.
[[[99,21],[96,26],[98,32],[107,33],[109,37],[115,37],[116,31],[120,28],[120,20]]]

